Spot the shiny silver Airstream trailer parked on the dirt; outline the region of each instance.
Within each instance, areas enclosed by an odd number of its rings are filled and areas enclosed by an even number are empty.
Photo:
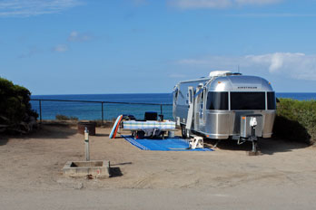
[[[236,139],[239,144],[271,138],[276,113],[270,82],[257,76],[226,71],[181,81],[173,91],[173,118],[183,138],[194,133],[206,138]]]

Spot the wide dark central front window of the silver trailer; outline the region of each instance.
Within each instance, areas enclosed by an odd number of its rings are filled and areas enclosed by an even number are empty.
[[[265,92],[231,92],[231,110],[265,110]]]

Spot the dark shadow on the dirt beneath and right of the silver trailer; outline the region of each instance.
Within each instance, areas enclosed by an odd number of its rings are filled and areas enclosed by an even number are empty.
[[[206,147],[212,148],[216,142],[217,139],[204,139],[204,144]],[[263,155],[273,155],[274,153],[278,152],[289,152],[293,149],[308,148],[309,145],[300,142],[286,141],[278,138],[262,138],[258,141],[258,147]],[[217,148],[223,150],[248,152],[252,150],[252,142],[246,141],[242,145],[238,145],[236,140],[222,139],[218,143]]]

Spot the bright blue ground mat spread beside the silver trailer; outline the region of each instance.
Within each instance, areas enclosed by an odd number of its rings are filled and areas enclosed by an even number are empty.
[[[188,149],[189,143],[179,137],[153,139],[143,138],[135,139],[132,136],[123,136],[125,140],[130,142],[133,146],[141,148],[143,150],[157,150],[157,151],[213,151],[212,148],[195,148]]]

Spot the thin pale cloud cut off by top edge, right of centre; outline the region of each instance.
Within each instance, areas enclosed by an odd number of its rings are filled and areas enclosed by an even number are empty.
[[[283,0],[168,0],[169,5],[181,9],[227,8],[246,5],[272,5]]]

